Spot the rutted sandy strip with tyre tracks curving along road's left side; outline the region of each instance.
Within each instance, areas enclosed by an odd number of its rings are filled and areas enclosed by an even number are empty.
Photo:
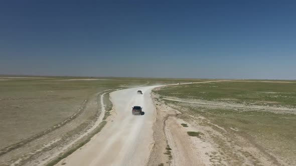
[[[103,94],[105,92],[89,97],[77,112],[65,121],[18,144],[1,149],[0,165],[44,165],[59,155],[87,134],[96,119],[97,121],[102,119],[103,109],[99,106],[103,106]]]

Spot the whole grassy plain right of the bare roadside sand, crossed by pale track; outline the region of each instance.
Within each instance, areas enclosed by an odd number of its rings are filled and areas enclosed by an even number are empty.
[[[197,139],[211,142],[212,164],[296,164],[296,81],[225,80],[155,93],[160,105],[181,112],[183,125],[203,133]]]

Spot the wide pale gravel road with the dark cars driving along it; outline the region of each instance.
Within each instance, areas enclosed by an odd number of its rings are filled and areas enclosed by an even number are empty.
[[[63,159],[67,165],[144,165],[153,146],[156,110],[151,90],[143,86],[110,93],[116,115],[92,139]],[[137,94],[142,90],[143,94]],[[143,107],[144,115],[132,115],[131,107]],[[61,165],[59,162],[58,165]]]

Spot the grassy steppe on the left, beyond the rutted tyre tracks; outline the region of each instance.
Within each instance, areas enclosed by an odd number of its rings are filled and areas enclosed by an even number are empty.
[[[96,93],[140,85],[201,79],[0,76],[0,149],[67,119]],[[108,95],[108,94],[107,94]],[[105,101],[107,102],[107,101]],[[108,107],[107,110],[110,110]]]

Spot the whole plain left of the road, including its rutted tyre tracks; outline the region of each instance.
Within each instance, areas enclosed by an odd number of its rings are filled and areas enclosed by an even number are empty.
[[[2,75],[0,163],[44,165],[48,161],[57,162],[59,159],[54,156],[61,151],[66,156],[67,151],[87,142],[94,134],[89,130],[99,119],[105,121],[110,115],[111,91],[189,81],[194,80]]]

